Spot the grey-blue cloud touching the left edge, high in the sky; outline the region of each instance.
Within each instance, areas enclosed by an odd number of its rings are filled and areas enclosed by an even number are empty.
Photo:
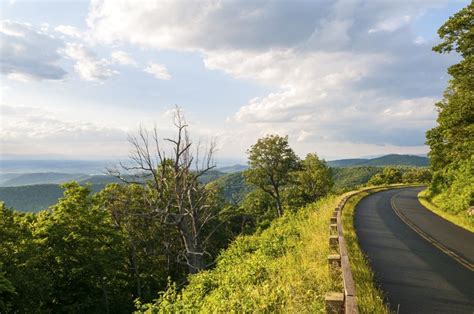
[[[59,65],[63,42],[31,25],[12,21],[0,24],[0,72],[10,79],[61,80],[66,71]]]

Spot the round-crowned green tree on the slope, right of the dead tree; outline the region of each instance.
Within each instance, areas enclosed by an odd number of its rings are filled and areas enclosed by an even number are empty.
[[[249,169],[246,181],[274,200],[278,216],[283,215],[282,189],[291,180],[290,172],[298,169],[298,157],[288,144],[288,136],[268,135],[247,151]]]

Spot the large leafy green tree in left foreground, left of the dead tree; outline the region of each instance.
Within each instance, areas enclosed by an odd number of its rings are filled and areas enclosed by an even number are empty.
[[[124,239],[87,187],[64,185],[64,197],[38,215],[34,236],[41,271],[52,278],[47,308],[60,312],[127,312]]]

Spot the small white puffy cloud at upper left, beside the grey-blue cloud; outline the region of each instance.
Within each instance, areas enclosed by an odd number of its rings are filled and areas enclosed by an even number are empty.
[[[67,43],[62,53],[75,62],[74,70],[86,81],[103,81],[118,73],[109,68],[109,61],[98,58],[83,44]]]

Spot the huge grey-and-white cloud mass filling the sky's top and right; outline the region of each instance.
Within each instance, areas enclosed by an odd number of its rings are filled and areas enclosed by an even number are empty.
[[[199,51],[208,69],[272,89],[231,119],[250,137],[422,147],[455,58],[420,44],[412,23],[446,3],[93,0],[87,22],[98,41]]]

